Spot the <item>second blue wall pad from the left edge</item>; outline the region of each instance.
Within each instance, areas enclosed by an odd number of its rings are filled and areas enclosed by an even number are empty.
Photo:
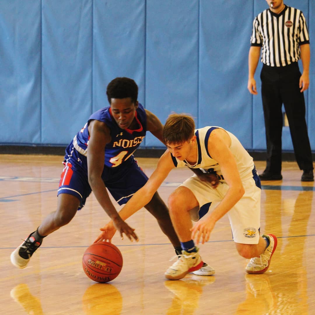
[[[43,1],[42,142],[70,142],[92,112],[92,6]]]

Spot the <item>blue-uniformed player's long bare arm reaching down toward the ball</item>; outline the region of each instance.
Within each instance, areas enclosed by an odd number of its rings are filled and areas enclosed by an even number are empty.
[[[125,233],[129,239],[137,239],[134,232],[135,229],[132,229],[118,215],[101,178],[104,169],[105,146],[111,140],[109,129],[105,123],[99,120],[93,120],[89,124],[89,135],[90,139],[87,153],[88,180],[92,191],[101,207],[112,219],[113,225],[119,231],[121,238],[123,238],[123,233]]]

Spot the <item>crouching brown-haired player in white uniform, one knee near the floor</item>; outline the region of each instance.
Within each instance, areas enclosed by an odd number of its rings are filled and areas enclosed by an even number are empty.
[[[165,277],[178,280],[200,268],[202,261],[193,239],[197,244],[207,242],[215,223],[225,214],[239,255],[250,259],[246,272],[266,272],[277,238],[272,234],[260,235],[260,179],[253,158],[239,140],[221,127],[195,130],[192,117],[171,114],[163,129],[163,141],[168,150],[160,157],[146,185],[133,195],[119,215],[126,220],[139,210],[175,167],[200,170],[199,175],[188,178],[169,196],[170,217],[182,252]],[[218,185],[203,181],[202,174],[209,172],[217,175]],[[209,209],[212,211],[205,216]],[[195,226],[192,220],[198,221]],[[103,231],[100,237],[107,239],[116,232],[112,222]]]

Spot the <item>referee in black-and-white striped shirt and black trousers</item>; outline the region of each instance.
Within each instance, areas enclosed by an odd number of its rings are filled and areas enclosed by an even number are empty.
[[[305,17],[301,10],[288,7],[283,0],[266,0],[269,8],[253,22],[249,49],[247,88],[256,95],[254,74],[260,58],[261,97],[264,110],[267,163],[261,180],[281,180],[282,104],[302,181],[313,181],[312,152],[307,135],[303,92],[309,85],[310,45]],[[262,48],[262,49],[261,49]],[[261,51],[262,50],[262,51]],[[301,74],[298,60],[302,60]]]

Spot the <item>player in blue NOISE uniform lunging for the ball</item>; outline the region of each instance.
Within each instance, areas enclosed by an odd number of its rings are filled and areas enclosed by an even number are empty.
[[[139,104],[138,86],[134,80],[118,77],[108,84],[106,94],[110,106],[93,113],[66,148],[57,210],[49,214],[37,230],[12,252],[14,266],[25,268],[43,238],[68,224],[77,210],[84,206],[92,190],[120,236],[123,238],[124,233],[130,240],[138,239],[134,229],[118,215],[106,187],[122,205],[145,185],[148,178],[133,153],[146,131],[162,141],[163,125],[152,112]],[[161,230],[179,252],[179,239],[160,196],[155,193],[145,208],[157,219]],[[214,270],[204,264],[196,272],[211,275]]]

